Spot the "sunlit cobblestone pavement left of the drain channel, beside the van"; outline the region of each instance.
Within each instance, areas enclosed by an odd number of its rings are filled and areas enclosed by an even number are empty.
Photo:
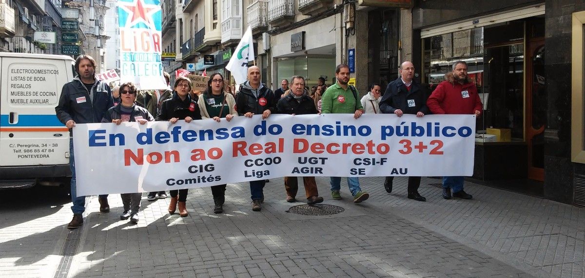
[[[0,277],[52,277],[71,220],[70,197],[42,186],[0,192]]]

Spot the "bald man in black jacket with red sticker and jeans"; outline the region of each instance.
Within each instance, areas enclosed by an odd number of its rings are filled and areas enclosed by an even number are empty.
[[[248,68],[248,80],[240,86],[240,92],[236,98],[236,110],[240,116],[251,118],[254,114],[261,114],[266,119],[271,113],[276,112],[278,99],[274,92],[260,82],[260,68],[255,65]],[[252,210],[260,211],[264,201],[264,185],[266,180],[252,180],[250,193],[252,193]]]

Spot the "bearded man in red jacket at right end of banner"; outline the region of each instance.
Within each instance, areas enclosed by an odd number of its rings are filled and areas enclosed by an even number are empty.
[[[479,116],[483,110],[477,88],[467,79],[467,63],[457,61],[453,64],[453,79],[441,82],[433,91],[426,106],[433,114],[475,114]],[[462,176],[443,177],[443,198],[453,197],[472,199],[473,196],[463,191]]]

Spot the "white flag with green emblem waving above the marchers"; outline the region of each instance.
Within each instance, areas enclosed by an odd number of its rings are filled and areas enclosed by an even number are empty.
[[[254,61],[254,41],[252,39],[252,28],[248,26],[246,33],[240,40],[238,47],[233,51],[226,70],[232,72],[234,81],[243,84],[248,75],[248,62]]]

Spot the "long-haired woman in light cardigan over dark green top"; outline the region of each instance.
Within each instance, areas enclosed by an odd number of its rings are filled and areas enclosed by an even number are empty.
[[[238,116],[238,112],[235,109],[236,100],[231,93],[225,91],[223,75],[219,73],[212,74],[209,77],[207,89],[199,97],[198,104],[202,119],[213,119],[219,123],[222,118],[230,121],[233,117]],[[223,213],[225,187],[226,185],[211,187],[215,203],[214,213]]]

